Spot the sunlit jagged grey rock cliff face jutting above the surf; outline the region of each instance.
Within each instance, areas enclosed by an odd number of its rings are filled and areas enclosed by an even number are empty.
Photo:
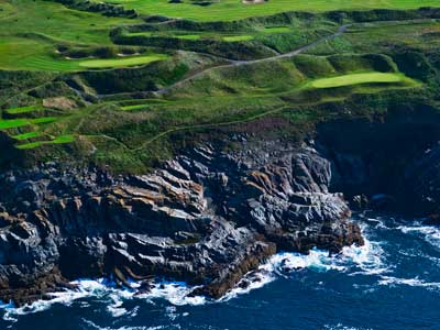
[[[23,304],[69,279],[152,276],[221,297],[277,251],[363,244],[330,162],[282,142],[205,144],[143,176],[53,164],[0,176],[0,299]]]

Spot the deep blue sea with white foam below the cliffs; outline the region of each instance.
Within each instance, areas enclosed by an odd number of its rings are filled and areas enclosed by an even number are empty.
[[[133,297],[82,280],[80,293],[51,304],[0,310],[0,329],[440,329],[440,229],[391,217],[356,221],[364,248],[333,257],[279,254],[253,289],[222,301],[186,298],[189,288],[178,284]]]

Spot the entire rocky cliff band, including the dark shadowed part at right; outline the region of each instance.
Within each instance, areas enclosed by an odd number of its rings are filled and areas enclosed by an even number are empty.
[[[220,298],[277,252],[362,245],[351,209],[438,224],[438,121],[391,118],[327,124],[307,143],[232,134],[145,175],[55,163],[3,173],[0,300],[45,299],[84,277],[144,292],[183,280]]]

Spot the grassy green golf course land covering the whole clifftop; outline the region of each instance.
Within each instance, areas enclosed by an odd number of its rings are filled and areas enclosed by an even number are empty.
[[[144,172],[219,132],[292,139],[398,105],[437,111],[440,10],[417,9],[432,1],[289,1],[284,10],[298,12],[265,16],[260,8],[278,12],[283,1],[234,2],[217,22],[191,15],[228,1],[186,2],[156,1],[154,12],[136,1],[0,3],[0,166]],[[186,19],[157,16],[168,7]]]

